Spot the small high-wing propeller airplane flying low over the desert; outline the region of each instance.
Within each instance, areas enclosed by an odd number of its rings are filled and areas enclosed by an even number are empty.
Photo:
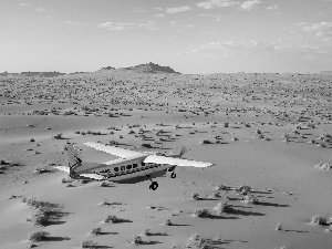
[[[66,143],[68,151],[68,166],[55,166],[55,168],[68,172],[71,178],[77,179],[80,177],[91,178],[96,180],[108,179],[110,181],[121,181],[139,176],[146,176],[151,180],[149,189],[156,190],[158,183],[151,177],[154,173],[163,170],[170,172],[170,177],[175,178],[175,168],[180,167],[210,167],[211,163],[203,163],[196,160],[184,159],[181,156],[187,152],[183,146],[179,149],[174,149],[168,156],[157,152],[135,152],[126,148],[121,148],[111,145],[103,145],[101,143],[87,142],[84,145],[93,147],[97,151],[105,152],[120,157],[106,163],[86,163],[75,146]]]

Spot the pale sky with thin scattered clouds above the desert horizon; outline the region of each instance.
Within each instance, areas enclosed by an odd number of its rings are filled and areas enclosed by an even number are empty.
[[[0,0],[0,72],[332,70],[332,0]]]

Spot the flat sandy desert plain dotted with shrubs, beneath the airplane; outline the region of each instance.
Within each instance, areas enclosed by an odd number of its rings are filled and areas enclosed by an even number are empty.
[[[332,248],[331,94],[323,74],[1,77],[0,248]],[[72,180],[53,168],[66,142],[84,162],[116,158],[83,145],[100,142],[215,166],[155,191]]]

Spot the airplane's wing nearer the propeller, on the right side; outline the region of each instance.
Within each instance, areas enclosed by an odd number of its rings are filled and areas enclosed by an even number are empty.
[[[157,155],[147,156],[144,163],[169,164],[169,165],[176,165],[181,167],[199,167],[199,168],[214,166],[214,164],[211,163],[203,163],[197,160],[188,160],[183,158],[174,158],[174,157],[157,156]]]

